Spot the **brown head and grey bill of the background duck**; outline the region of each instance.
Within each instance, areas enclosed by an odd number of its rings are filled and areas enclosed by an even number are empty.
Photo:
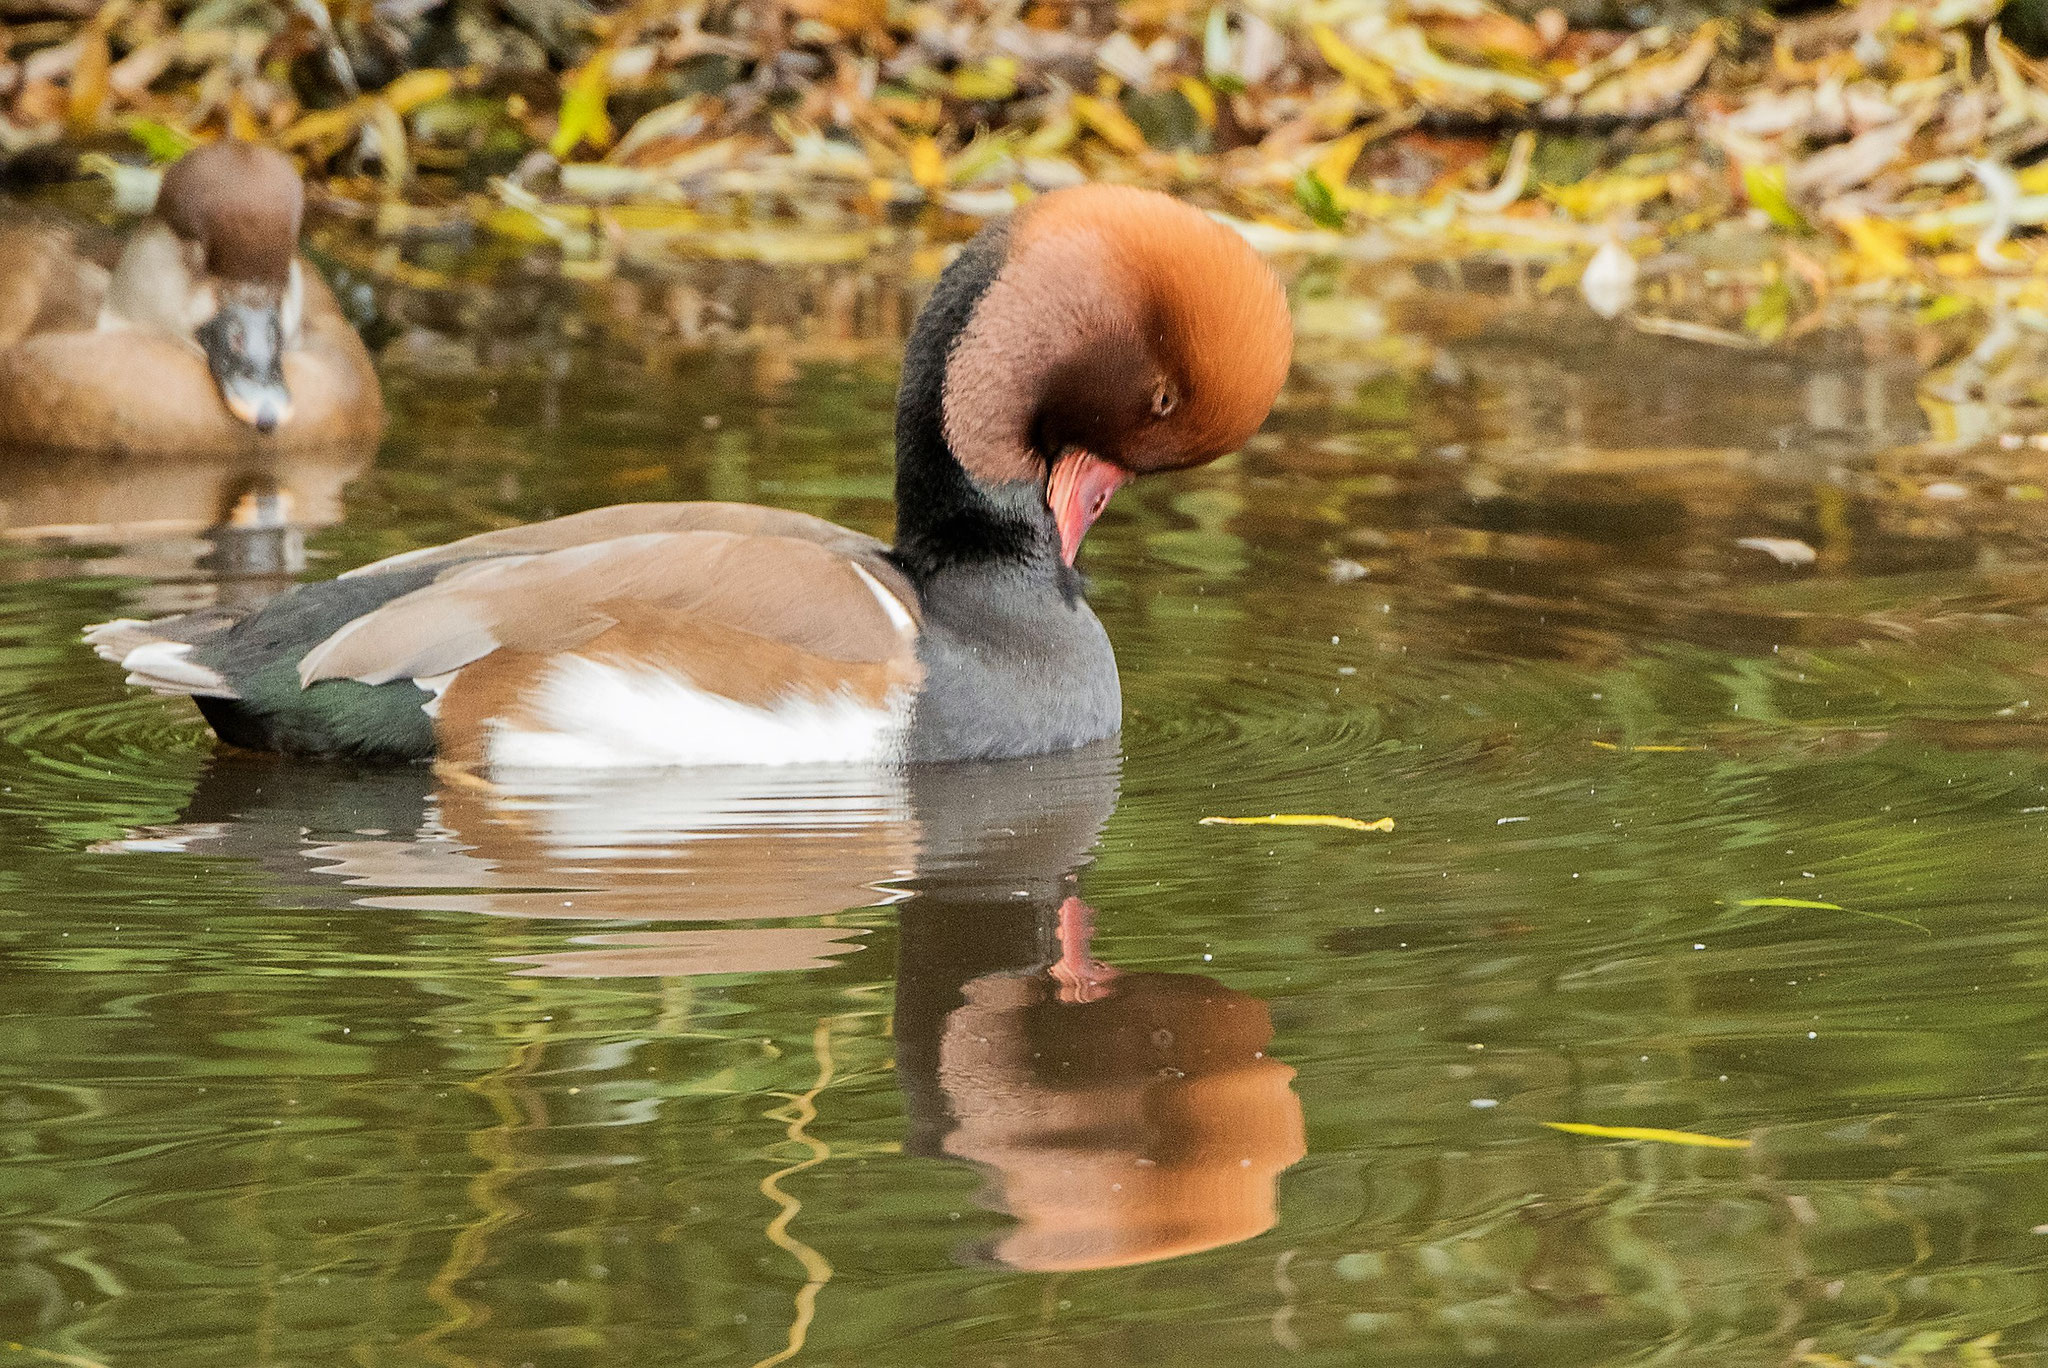
[[[193,330],[227,410],[258,432],[291,418],[285,348],[297,334],[305,186],[289,158],[225,139],[164,172],[156,217],[199,260],[213,309]]]

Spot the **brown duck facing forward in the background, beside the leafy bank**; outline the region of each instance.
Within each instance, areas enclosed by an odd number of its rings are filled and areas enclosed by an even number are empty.
[[[383,432],[362,340],[297,258],[305,186],[281,152],[199,147],[113,270],[74,233],[0,233],[0,442],[236,457]]]

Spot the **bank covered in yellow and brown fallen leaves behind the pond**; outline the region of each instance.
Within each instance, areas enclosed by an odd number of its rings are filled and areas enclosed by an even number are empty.
[[[2034,307],[2042,14],[4,0],[0,158],[16,184],[98,174],[133,207],[150,164],[264,139],[379,240],[508,242],[590,276],[678,252],[852,260],[1122,180],[1268,250],[1534,262],[1610,313],[1673,262],[1784,281],[1745,319],[1767,342],[1835,289],[1929,303],[1989,283]]]

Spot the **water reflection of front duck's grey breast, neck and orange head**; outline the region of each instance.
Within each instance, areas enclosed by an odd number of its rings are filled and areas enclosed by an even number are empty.
[[[1114,1268],[1251,1239],[1305,1153],[1266,1003],[1204,975],[1094,958],[1073,893],[1116,774],[1085,760],[934,772],[899,913],[907,1149],[971,1159],[1016,1268]]]

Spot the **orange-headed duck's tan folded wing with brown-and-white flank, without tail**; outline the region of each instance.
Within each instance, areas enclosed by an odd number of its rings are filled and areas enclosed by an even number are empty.
[[[635,532],[457,565],[299,680],[432,690],[461,764],[881,760],[920,680],[913,602],[815,541]]]

